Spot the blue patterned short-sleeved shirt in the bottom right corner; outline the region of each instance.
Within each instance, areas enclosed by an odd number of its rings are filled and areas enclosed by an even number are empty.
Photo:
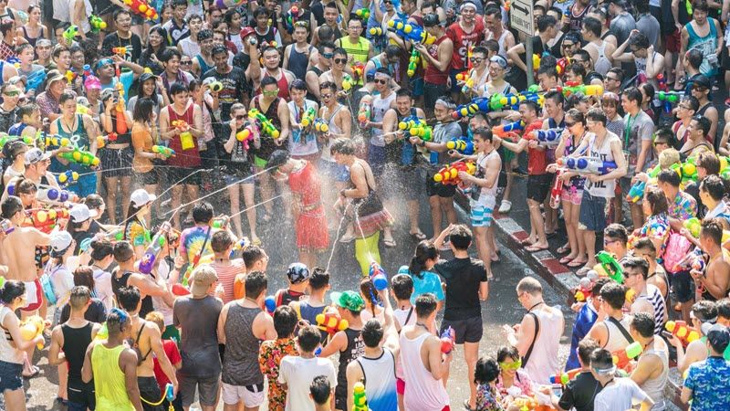
[[[693,411],[730,409],[730,362],[709,357],[690,365],[684,386],[692,390]]]

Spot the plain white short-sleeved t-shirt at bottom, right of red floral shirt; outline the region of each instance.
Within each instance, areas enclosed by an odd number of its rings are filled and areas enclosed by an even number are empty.
[[[279,384],[287,385],[287,411],[314,411],[309,385],[318,375],[327,375],[332,389],[337,385],[335,366],[327,358],[302,358],[287,355],[279,365]]]

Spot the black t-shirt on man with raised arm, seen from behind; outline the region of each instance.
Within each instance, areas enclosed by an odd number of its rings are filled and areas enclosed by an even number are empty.
[[[462,321],[482,316],[479,286],[486,282],[482,261],[475,258],[452,258],[434,267],[446,283],[443,320]]]

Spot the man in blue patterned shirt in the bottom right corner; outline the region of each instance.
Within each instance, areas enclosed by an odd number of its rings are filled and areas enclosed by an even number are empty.
[[[723,352],[730,344],[730,331],[715,324],[707,332],[706,360],[690,365],[682,388],[682,402],[692,400],[694,411],[730,409],[730,362]]]

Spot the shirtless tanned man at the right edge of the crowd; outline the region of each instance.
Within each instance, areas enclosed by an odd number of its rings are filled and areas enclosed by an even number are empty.
[[[704,273],[692,270],[697,293],[703,300],[722,300],[730,289],[730,251],[722,247],[723,225],[719,218],[704,220],[700,230],[700,247],[710,256]],[[696,299],[699,300],[699,299]]]

